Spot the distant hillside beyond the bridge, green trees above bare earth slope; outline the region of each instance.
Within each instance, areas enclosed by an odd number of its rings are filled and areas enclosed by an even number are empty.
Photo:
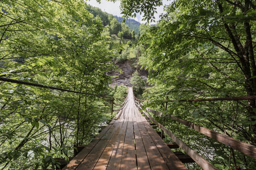
[[[112,82],[109,84],[114,86],[132,86],[131,79],[134,73],[138,73],[139,79],[147,80],[148,72],[140,70],[138,66],[137,54],[139,49],[136,47],[136,40],[139,34],[140,23],[134,19],[127,19],[122,23],[123,18],[113,16],[107,12],[103,12],[97,7],[87,6],[87,10],[93,16],[99,17],[105,27],[104,35],[109,35],[111,39],[110,49],[114,50],[113,63],[118,67],[118,70],[109,73],[112,77]],[[119,48],[119,50],[117,50]]]

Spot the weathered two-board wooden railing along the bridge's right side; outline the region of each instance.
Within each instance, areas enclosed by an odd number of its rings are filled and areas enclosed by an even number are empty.
[[[242,141],[239,141],[237,139],[234,139],[232,137],[229,137],[227,135],[215,132],[213,130],[210,130],[206,127],[200,126],[198,124],[189,122],[187,120],[183,120],[180,118],[177,118],[175,116],[172,115],[165,115],[163,117],[163,113],[150,109],[148,107],[144,107],[145,110],[143,110],[142,106],[143,106],[143,100],[138,100],[138,98],[135,97],[136,101],[136,105],[142,109],[143,113],[156,125],[158,125],[158,127],[162,130],[162,132],[164,132],[165,134],[167,134],[168,136],[170,136],[172,138],[172,140],[181,148],[183,149],[202,169],[208,170],[208,169],[217,169],[216,167],[214,167],[210,162],[208,162],[207,160],[205,160],[203,157],[201,157],[200,154],[198,154],[195,150],[191,149],[190,147],[188,147],[181,139],[179,139],[177,136],[175,136],[170,130],[168,130],[166,127],[164,127],[164,125],[160,124],[159,122],[157,122],[155,119],[153,119],[148,112],[151,112],[153,115],[157,116],[157,117],[161,117],[163,118],[163,120],[165,119],[166,116],[168,116],[169,118],[171,118],[174,121],[177,121],[178,123],[184,124],[186,126],[188,126],[191,129],[196,130],[197,132],[204,134],[212,139],[215,139],[217,141],[219,141],[220,143],[233,148],[234,150],[238,150],[242,153],[244,153],[245,155],[248,155],[254,159],[256,159],[256,147],[247,143],[244,143]],[[144,102],[149,102],[149,101],[144,101]],[[165,106],[164,106],[164,111],[167,110],[167,103],[169,101],[165,101]]]

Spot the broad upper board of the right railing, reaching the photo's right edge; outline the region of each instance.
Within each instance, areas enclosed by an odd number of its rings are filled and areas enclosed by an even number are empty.
[[[198,124],[195,124],[195,123],[177,118],[175,116],[172,116],[172,115],[169,115],[169,116],[172,120],[175,120],[179,123],[182,123],[182,124],[190,127],[191,129],[196,130],[197,132],[200,132],[200,133],[202,133],[202,134],[204,134],[204,135],[206,135],[206,136],[208,136],[212,139],[215,139],[215,140],[219,141],[220,143],[222,143],[226,146],[229,146],[229,147],[231,147],[235,150],[238,150],[238,151],[256,159],[256,147],[253,146],[253,145],[243,143],[243,142],[241,142],[237,139],[234,139],[232,137],[229,137],[229,136],[226,136],[224,134],[215,132],[215,131],[210,130],[206,127],[203,127],[203,126],[200,126]]]

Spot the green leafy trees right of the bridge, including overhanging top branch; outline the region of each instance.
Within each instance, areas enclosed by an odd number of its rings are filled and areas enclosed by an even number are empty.
[[[121,1],[124,16],[144,12],[151,20],[161,1]],[[152,86],[144,93],[150,107],[162,100],[256,94],[255,2],[174,1],[156,25],[145,26],[139,58]],[[152,12],[151,12],[152,11]],[[225,135],[256,144],[255,101],[169,103],[167,114],[194,121]],[[168,120],[191,148],[220,169],[254,169],[255,160]],[[189,134],[189,135],[187,135]],[[198,143],[197,141],[200,141]],[[195,166],[195,165],[190,165]],[[192,169],[197,169],[195,166]]]

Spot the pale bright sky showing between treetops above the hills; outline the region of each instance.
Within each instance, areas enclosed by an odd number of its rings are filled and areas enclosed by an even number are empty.
[[[170,0],[169,1],[163,0],[163,6],[171,4],[171,2],[172,1],[170,1]],[[101,3],[99,4],[99,3],[97,3],[96,0],[91,0],[91,1],[87,1],[86,3],[88,3],[94,7],[98,7],[101,10],[103,10],[107,13],[110,13],[114,16],[122,17],[121,10],[119,8],[120,1],[117,1],[116,3],[112,3],[112,2],[108,2],[106,0],[101,0]],[[161,15],[161,13],[164,12],[163,6],[157,7],[157,13],[155,13],[156,21],[159,20],[159,16]],[[142,16],[140,16],[139,13],[137,13],[136,18],[134,18],[134,19],[140,23],[145,23],[145,21],[142,21]]]

